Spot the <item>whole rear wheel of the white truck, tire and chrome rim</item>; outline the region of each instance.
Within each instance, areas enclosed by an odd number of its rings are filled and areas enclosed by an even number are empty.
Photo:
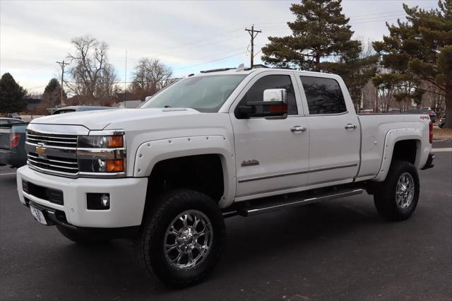
[[[406,220],[415,212],[419,191],[416,168],[406,161],[394,161],[386,180],[375,189],[376,209],[387,220]]]

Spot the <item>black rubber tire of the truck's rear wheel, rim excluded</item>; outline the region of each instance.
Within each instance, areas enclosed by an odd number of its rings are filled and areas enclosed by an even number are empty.
[[[400,176],[405,173],[412,177],[414,194],[410,205],[407,208],[400,208],[396,200],[396,189]],[[393,161],[386,179],[375,188],[374,203],[376,209],[386,220],[406,220],[415,212],[419,200],[420,183],[417,170],[411,163],[400,160]]]

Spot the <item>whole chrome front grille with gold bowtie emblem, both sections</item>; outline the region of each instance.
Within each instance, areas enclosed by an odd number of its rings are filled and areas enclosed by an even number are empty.
[[[76,176],[77,135],[49,134],[27,131],[28,165],[42,172]]]

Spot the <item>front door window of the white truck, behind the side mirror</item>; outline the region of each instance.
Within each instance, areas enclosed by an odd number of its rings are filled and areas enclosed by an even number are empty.
[[[267,89],[285,89],[287,91],[287,114],[298,114],[294,86],[288,75],[273,75],[259,78],[248,92],[246,92],[244,98],[240,101],[240,105],[245,105],[249,101],[263,101],[263,90]]]

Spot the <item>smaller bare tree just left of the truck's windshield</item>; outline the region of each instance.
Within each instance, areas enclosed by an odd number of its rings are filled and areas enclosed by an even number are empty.
[[[159,59],[143,57],[135,67],[131,93],[144,100],[146,96],[154,95],[170,83],[172,70]]]

